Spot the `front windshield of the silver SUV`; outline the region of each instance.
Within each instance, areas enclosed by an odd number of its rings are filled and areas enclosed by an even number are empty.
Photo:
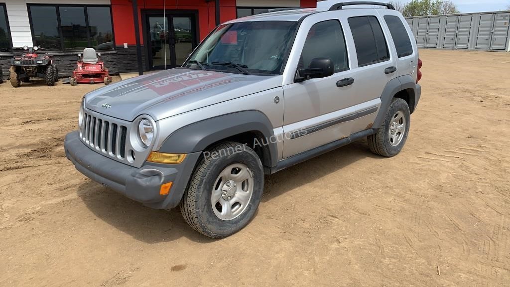
[[[219,26],[183,67],[279,75],[296,27],[294,21],[253,21]]]

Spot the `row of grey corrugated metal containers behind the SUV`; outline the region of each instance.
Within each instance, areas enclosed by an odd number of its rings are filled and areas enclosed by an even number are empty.
[[[406,18],[418,47],[510,52],[510,11]]]

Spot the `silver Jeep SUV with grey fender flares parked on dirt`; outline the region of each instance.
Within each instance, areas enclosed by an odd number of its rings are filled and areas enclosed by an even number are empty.
[[[218,26],[182,67],[86,94],[67,158],[221,238],[253,218],[265,174],[366,137],[398,154],[421,94],[402,15],[367,2],[276,10]]]

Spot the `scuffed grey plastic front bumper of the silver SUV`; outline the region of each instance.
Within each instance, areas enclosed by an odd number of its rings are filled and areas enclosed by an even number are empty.
[[[115,161],[88,148],[78,131],[64,141],[66,157],[88,178],[116,192],[156,209],[179,205],[200,152],[188,154],[181,164],[145,162],[141,168]],[[162,184],[173,182],[168,195],[160,195]]]

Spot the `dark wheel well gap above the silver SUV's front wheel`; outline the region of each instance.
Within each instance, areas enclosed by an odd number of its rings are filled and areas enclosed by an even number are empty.
[[[236,141],[242,143],[250,147],[262,161],[262,165],[264,165],[264,172],[270,173],[271,168],[271,151],[269,146],[266,144],[267,139],[264,134],[260,131],[249,131],[240,134],[236,134],[221,140],[218,140],[207,147],[206,150],[211,149],[212,147],[218,145],[221,142],[225,141]]]

